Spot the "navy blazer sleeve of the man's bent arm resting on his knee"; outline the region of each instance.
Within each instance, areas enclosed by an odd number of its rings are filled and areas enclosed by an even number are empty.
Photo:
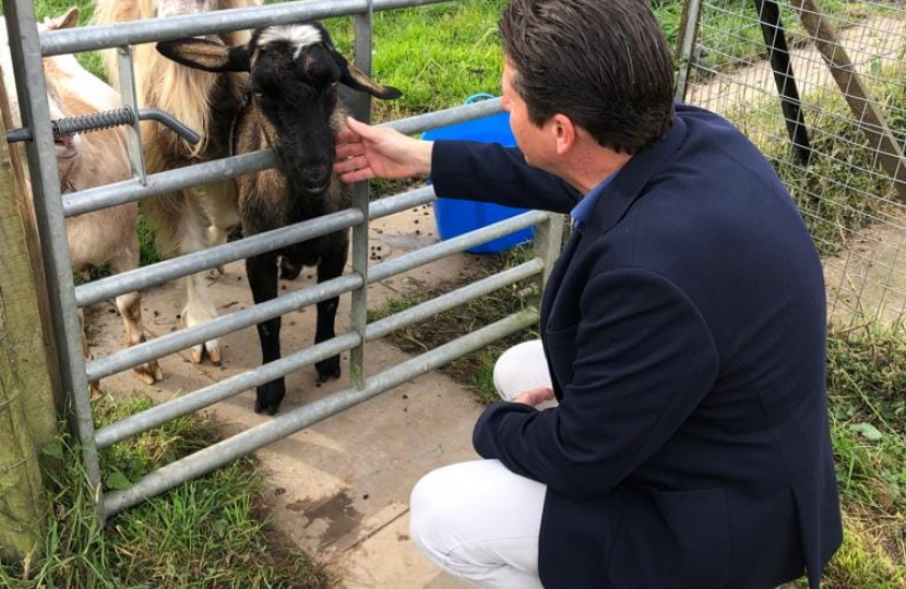
[[[518,474],[589,498],[612,490],[682,425],[713,387],[718,354],[693,302],[647,271],[594,277],[581,316],[560,405],[494,404],[473,443]],[[559,332],[569,342],[551,340],[552,357],[573,341],[571,329]]]

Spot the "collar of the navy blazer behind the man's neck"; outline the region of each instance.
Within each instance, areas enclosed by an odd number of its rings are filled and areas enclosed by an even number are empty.
[[[613,181],[595,203],[594,213],[585,227],[586,235],[605,233],[623,218],[648,180],[672,160],[686,139],[686,122],[677,113],[672,127],[657,143],[632,156],[616,172]]]

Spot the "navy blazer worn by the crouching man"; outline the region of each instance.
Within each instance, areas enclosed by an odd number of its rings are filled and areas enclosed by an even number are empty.
[[[568,213],[516,149],[437,142],[438,194]],[[548,486],[548,589],[773,589],[842,541],[821,263],[774,170],[677,106],[574,230],[543,299],[560,404],[499,402],[486,458]]]

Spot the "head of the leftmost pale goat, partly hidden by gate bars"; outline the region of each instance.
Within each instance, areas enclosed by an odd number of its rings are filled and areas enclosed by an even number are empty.
[[[75,26],[79,22],[79,9],[71,8],[65,14],[56,19],[47,19],[44,23],[38,25],[41,31],[69,28]],[[45,63],[45,68],[52,69],[51,63]],[[19,108],[19,97],[15,91],[15,79],[13,76],[12,55],[10,52],[9,34],[7,33],[5,21],[0,19],[0,70],[3,73],[3,85],[7,89],[7,95],[10,104],[11,123],[15,127],[22,124],[22,117]],[[53,80],[45,75],[45,85],[47,86],[47,104],[50,109],[51,119],[62,119],[65,117],[63,103],[60,98],[57,86]],[[57,164],[60,167],[60,172],[63,173],[64,167],[71,163],[72,158],[79,153],[78,135],[61,136],[56,140],[57,148]]]

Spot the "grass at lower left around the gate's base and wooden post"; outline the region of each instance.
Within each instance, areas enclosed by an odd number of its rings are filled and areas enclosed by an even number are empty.
[[[150,407],[145,397],[96,405],[98,425]],[[63,429],[61,426],[61,429]],[[214,424],[180,418],[103,452],[104,484],[123,489],[151,469],[215,441]],[[45,448],[52,491],[44,555],[0,564],[9,589],[329,589],[335,579],[287,548],[262,514],[262,474],[250,458],[190,481],[102,527],[78,448]]]

